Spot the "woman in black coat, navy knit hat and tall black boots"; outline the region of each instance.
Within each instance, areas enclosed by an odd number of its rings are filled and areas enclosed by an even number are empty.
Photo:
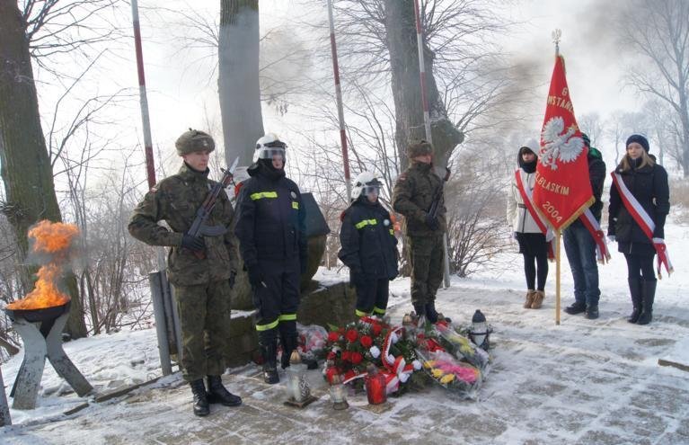
[[[632,135],[627,139],[627,153],[615,173],[622,177],[624,185],[653,219],[653,238],[663,239],[665,219],[670,211],[667,172],[662,165],[656,164],[653,156],[649,156],[649,141],[646,138]],[[624,254],[627,261],[627,280],[633,307],[628,321],[648,325],[658,282],[653,271],[655,247],[624,206],[615,185],[610,187],[608,210],[608,236],[617,241],[618,251]]]

